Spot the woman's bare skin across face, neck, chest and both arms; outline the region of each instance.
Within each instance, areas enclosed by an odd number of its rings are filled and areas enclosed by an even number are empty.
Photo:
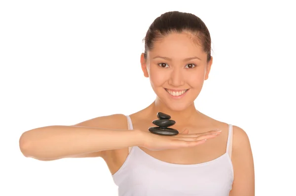
[[[22,153],[26,157],[42,161],[102,157],[111,174],[125,162],[129,150],[128,147],[122,146],[128,145],[137,145],[150,156],[167,163],[203,163],[222,156],[226,151],[228,124],[201,113],[193,102],[200,94],[204,81],[209,78],[213,58],[209,62],[206,59],[207,54],[190,33],[171,33],[163,37],[148,51],[147,59],[141,54],[143,74],[150,80],[156,99],[148,107],[130,115],[134,130],[141,130],[140,134],[114,131],[128,129],[126,117],[114,114],[90,119],[74,126],[51,126],[27,131],[20,138]],[[189,90],[182,98],[173,98],[165,89]],[[159,111],[169,114],[172,120],[176,121],[171,128],[186,130],[177,136],[169,137],[149,133],[148,128],[157,118],[156,113]],[[207,135],[206,142],[191,142],[189,145],[178,139],[183,137],[183,140],[186,140],[184,137],[187,135],[189,141],[195,135],[216,129],[222,132]],[[176,139],[175,143],[172,138]],[[145,144],[142,141],[145,141]],[[55,145],[52,145],[53,143]],[[171,149],[152,149],[153,145],[158,143],[165,144],[164,148],[170,146]],[[194,145],[191,145],[192,143]],[[105,150],[94,152],[96,149]],[[234,181],[229,196],[254,196],[254,163],[250,141],[246,132],[237,126],[233,126],[231,161]]]

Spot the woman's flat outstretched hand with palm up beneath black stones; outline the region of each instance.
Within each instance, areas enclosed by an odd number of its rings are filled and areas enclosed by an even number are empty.
[[[219,129],[191,134],[188,134],[188,129],[185,129],[174,136],[157,135],[151,132],[145,132],[145,142],[143,147],[153,151],[193,147],[205,143],[207,139],[215,138],[220,133],[221,130]]]

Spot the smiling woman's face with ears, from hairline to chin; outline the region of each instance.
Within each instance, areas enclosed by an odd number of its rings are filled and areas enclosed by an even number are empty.
[[[207,64],[207,54],[189,34],[172,33],[154,43],[147,60],[141,55],[141,65],[159,100],[181,111],[199,95],[212,59]]]

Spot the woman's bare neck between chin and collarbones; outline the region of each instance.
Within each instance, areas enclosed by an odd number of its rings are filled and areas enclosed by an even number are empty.
[[[196,120],[199,118],[200,112],[196,110],[194,102],[192,102],[187,108],[180,111],[175,111],[167,107],[158,98],[150,105],[150,112],[155,115],[157,112],[162,112],[171,116],[171,119],[176,122],[188,122],[190,120]]]

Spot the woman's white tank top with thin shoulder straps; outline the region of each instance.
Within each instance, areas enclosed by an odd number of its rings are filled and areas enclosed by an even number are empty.
[[[128,126],[133,129],[129,116]],[[205,163],[175,164],[160,161],[138,146],[112,177],[118,196],[229,196],[233,182],[232,125],[226,152]]]

